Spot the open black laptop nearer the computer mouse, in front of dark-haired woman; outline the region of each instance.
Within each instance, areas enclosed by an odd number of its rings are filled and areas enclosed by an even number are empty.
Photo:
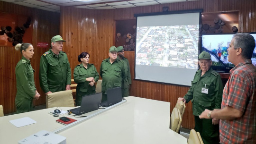
[[[70,112],[75,115],[82,115],[93,110],[98,110],[100,107],[102,93],[95,93],[85,95],[82,97],[81,106],[79,108],[71,109]]]

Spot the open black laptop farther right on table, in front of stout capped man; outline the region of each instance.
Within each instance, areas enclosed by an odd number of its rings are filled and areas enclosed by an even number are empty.
[[[118,102],[122,101],[122,90],[121,87],[116,87],[107,90],[107,101],[101,102],[101,106],[103,107],[109,107],[111,105],[114,105]]]

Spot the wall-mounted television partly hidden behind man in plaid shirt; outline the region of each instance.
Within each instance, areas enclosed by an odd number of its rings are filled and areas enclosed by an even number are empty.
[[[229,73],[235,66],[229,62],[228,48],[235,33],[202,34],[201,51],[207,51],[211,55],[212,69],[221,73]],[[256,33],[249,33],[256,40]],[[253,51],[252,63],[256,66],[256,48]]]

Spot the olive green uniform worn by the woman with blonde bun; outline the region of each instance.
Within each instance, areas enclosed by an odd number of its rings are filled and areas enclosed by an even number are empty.
[[[35,70],[31,67],[30,60],[22,56],[15,68],[17,93],[15,105],[17,113],[31,111],[33,98],[36,94],[34,81]]]

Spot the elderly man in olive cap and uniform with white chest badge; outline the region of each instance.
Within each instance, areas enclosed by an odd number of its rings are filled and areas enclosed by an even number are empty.
[[[178,102],[192,102],[195,130],[201,134],[204,144],[219,144],[219,119],[200,119],[205,110],[220,109],[223,85],[219,73],[212,70],[210,53],[202,51],[199,55],[200,70],[192,81],[188,93]]]

